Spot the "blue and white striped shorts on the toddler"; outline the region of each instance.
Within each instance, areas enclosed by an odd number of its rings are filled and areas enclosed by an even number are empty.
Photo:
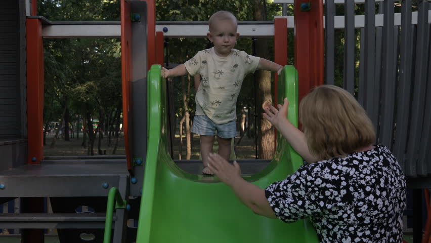
[[[212,122],[206,115],[195,115],[193,119],[192,133],[206,136],[214,136],[217,131],[217,136],[221,138],[236,137],[236,121],[217,125]]]

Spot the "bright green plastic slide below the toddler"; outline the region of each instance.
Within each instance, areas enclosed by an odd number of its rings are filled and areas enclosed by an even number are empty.
[[[137,243],[318,242],[308,220],[283,223],[255,215],[217,177],[192,175],[176,166],[167,149],[166,82],[160,65],[148,72],[148,150]],[[297,72],[285,66],[278,103],[289,99],[289,119],[297,126]],[[265,188],[293,173],[302,159],[277,134],[274,159],[262,172],[244,177]]]

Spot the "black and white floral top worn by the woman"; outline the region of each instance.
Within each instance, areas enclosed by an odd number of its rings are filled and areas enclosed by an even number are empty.
[[[321,242],[402,242],[406,181],[389,149],[301,166],[265,190],[284,222],[310,218]]]

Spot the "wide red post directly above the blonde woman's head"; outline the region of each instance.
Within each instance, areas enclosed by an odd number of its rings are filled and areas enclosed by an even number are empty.
[[[311,3],[309,11],[301,11],[303,3]],[[323,2],[294,1],[295,67],[298,70],[299,102],[309,91],[323,85]]]

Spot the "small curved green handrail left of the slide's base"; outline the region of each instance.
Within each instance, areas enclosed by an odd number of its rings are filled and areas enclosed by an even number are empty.
[[[112,187],[108,194],[108,205],[106,207],[105,233],[103,235],[103,243],[111,242],[112,218],[114,214],[114,200],[116,209],[125,209],[127,201],[124,200],[118,188]]]

